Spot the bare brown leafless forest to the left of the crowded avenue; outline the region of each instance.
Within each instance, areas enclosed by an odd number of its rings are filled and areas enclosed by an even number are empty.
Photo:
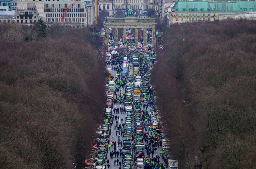
[[[105,104],[89,28],[0,24],[0,168],[80,168]]]

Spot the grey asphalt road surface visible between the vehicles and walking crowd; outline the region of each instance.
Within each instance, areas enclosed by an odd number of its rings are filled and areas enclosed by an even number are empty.
[[[111,66],[108,66],[108,67],[111,67]],[[129,69],[129,74],[131,73],[131,71],[132,71],[132,69]],[[114,70],[112,70],[111,71],[111,75],[112,76],[115,76],[115,74],[116,74],[116,71],[114,71]],[[125,93],[125,91],[122,89],[121,90],[122,91],[122,93]],[[117,94],[120,94],[120,92],[117,92]],[[115,108],[118,108],[119,107],[119,109],[120,109],[120,107],[123,107],[124,105],[122,105],[122,104],[116,104],[116,107]],[[150,109],[151,107],[148,107],[147,108],[147,111],[149,111],[149,109]],[[143,109],[143,107],[142,107],[142,109]],[[125,122],[125,114],[121,114],[121,111],[119,111],[119,114],[114,114],[114,112],[112,112],[112,114],[115,116],[115,115],[117,115],[117,116],[119,116],[119,120],[118,120],[118,125],[121,123],[121,119],[123,118],[123,123]],[[113,120],[113,125],[111,126],[111,135],[110,135],[110,141],[116,141],[116,142],[118,142],[118,136],[116,136],[116,130],[114,129],[114,125],[115,125],[115,123],[116,123],[116,120]],[[122,123],[121,123],[122,124]],[[112,139],[112,134],[114,134],[114,139]],[[149,134],[149,135],[151,135],[151,134]],[[121,133],[120,133],[120,139],[122,140],[122,136],[121,136]],[[116,148],[116,151],[118,151],[119,149],[121,148],[121,146],[119,145],[117,145],[117,148]],[[158,156],[160,156],[160,150],[162,150],[162,147],[159,147],[159,148],[157,148],[157,151],[154,153],[154,157],[156,156],[156,155],[158,155]],[[114,151],[114,148],[110,148],[110,151]],[[122,162],[122,158],[119,156],[119,157],[113,157],[113,159],[111,159],[110,158],[110,155],[109,155],[109,152],[110,152],[109,150],[108,150],[108,156],[107,156],[107,159],[109,159],[109,164],[110,164],[110,169],[118,169],[119,168],[119,165],[114,165],[114,160],[117,160],[117,159],[119,159],[119,161],[121,160],[121,162]],[[151,157],[152,157],[152,155],[151,155]],[[163,161],[163,159],[162,158],[160,158],[160,163],[164,163],[164,161]],[[123,169],[123,167],[122,167],[122,165],[121,165],[121,168]],[[135,169],[135,168],[134,168]]]

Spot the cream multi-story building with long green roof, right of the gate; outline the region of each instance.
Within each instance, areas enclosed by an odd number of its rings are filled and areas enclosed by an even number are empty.
[[[253,12],[256,10],[256,1],[178,1],[171,9],[167,16],[168,25],[177,22],[215,21],[219,14]]]

